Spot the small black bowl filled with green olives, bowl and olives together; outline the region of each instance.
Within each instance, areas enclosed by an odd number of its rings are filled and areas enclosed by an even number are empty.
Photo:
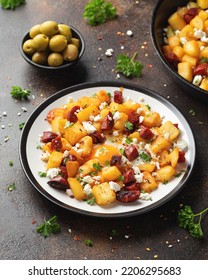
[[[59,70],[75,65],[82,57],[85,43],[74,27],[45,21],[32,26],[24,36],[20,52],[31,65]]]

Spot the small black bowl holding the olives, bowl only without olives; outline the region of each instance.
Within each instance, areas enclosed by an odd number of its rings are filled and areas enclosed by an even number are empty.
[[[71,31],[72,31],[72,37],[74,38],[77,38],[79,39],[80,41],[80,46],[79,46],[79,55],[77,57],[76,60],[74,61],[70,61],[70,62],[67,62],[67,61],[64,61],[64,63],[60,66],[57,66],[57,67],[54,67],[54,66],[49,66],[49,65],[41,65],[41,64],[37,64],[37,63],[34,63],[31,59],[31,56],[27,55],[23,49],[22,49],[22,46],[24,44],[24,42],[28,39],[31,39],[30,38],[30,35],[29,35],[29,32],[26,33],[26,35],[23,37],[22,41],[21,41],[21,45],[20,45],[20,53],[22,55],[22,57],[31,65],[33,66],[36,66],[38,68],[41,68],[41,69],[46,69],[46,70],[62,70],[62,69],[67,69],[67,68],[70,68],[72,66],[74,66],[82,57],[84,51],[85,51],[85,42],[84,42],[84,38],[83,36],[80,34],[80,32],[75,29],[74,27],[72,27],[70,25],[70,28],[71,28]]]

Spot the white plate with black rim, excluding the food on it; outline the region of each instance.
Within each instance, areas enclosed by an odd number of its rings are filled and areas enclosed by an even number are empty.
[[[181,134],[180,138],[186,141],[188,150],[186,152],[186,163],[181,168],[186,170],[179,177],[175,177],[168,184],[160,184],[158,189],[151,193],[152,200],[138,200],[133,203],[122,204],[115,202],[107,206],[90,206],[84,201],[78,201],[69,197],[64,191],[56,190],[48,186],[47,178],[41,178],[39,171],[44,170],[44,164],[40,159],[41,151],[37,149],[40,134],[49,129],[49,124],[45,120],[49,110],[63,106],[69,100],[74,100],[82,96],[91,96],[100,89],[113,93],[114,90],[124,88],[124,96],[129,96],[138,103],[144,100],[144,104],[149,104],[152,110],[164,116],[165,120],[178,123]],[[29,117],[22,131],[20,139],[20,159],[26,176],[32,185],[47,199],[67,208],[69,210],[99,217],[125,217],[141,214],[150,211],[163,203],[169,201],[182,188],[190,176],[195,162],[195,140],[189,124],[183,115],[169,101],[160,95],[139,86],[118,82],[97,82],[80,84],[66,88],[52,95],[44,101]]]

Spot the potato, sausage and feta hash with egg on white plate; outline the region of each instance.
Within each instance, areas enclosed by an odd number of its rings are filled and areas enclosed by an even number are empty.
[[[178,125],[124,92],[99,90],[48,112],[41,174],[52,188],[99,205],[128,203],[180,175],[187,147]]]

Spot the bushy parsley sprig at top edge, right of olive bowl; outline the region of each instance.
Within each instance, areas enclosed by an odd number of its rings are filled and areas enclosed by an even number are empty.
[[[83,17],[87,23],[96,26],[116,17],[116,8],[105,0],[90,0],[84,8]]]

